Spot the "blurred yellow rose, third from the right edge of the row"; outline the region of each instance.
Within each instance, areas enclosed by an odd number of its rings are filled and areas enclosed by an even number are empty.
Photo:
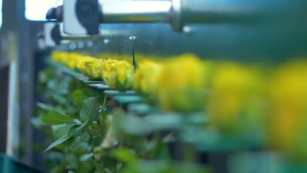
[[[159,104],[164,110],[197,111],[204,102],[206,69],[194,55],[165,62],[158,77]]]

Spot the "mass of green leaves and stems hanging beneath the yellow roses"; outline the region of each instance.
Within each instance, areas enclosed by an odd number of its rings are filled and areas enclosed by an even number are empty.
[[[188,119],[175,113],[127,114],[122,106],[108,105],[101,91],[61,70],[42,71],[39,82],[43,103],[37,103],[31,123],[53,140],[45,149],[49,172],[210,172],[207,167],[174,162],[168,143],[178,135],[161,133],[203,124],[198,115]],[[187,142],[197,139],[182,136]]]

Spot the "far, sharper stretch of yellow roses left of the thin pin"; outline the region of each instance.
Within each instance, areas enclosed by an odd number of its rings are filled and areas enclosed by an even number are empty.
[[[52,58],[55,62],[79,70],[93,79],[104,79],[112,89],[124,91],[132,88],[134,68],[125,60],[97,59],[67,52],[55,52]]]

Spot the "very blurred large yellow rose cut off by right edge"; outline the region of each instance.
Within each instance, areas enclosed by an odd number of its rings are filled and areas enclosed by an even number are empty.
[[[280,66],[270,83],[271,144],[293,158],[307,158],[307,61]]]

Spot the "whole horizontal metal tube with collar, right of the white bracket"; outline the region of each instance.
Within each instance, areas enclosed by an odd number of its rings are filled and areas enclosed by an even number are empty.
[[[273,1],[102,1],[101,23],[170,23],[180,31],[193,23],[254,22],[265,18],[270,2]]]

